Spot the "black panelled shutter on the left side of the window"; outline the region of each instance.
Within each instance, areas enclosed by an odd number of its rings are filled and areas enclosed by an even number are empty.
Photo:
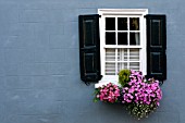
[[[99,15],[79,15],[81,79],[97,83],[100,74]]]

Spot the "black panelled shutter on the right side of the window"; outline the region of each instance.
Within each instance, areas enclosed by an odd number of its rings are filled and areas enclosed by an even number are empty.
[[[166,79],[165,15],[146,15],[147,21],[147,77]]]

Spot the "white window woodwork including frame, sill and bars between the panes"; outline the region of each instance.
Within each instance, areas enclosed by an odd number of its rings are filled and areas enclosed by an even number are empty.
[[[148,14],[148,9],[98,9],[98,14],[101,15],[99,19],[99,29],[100,29],[100,62],[101,62],[101,74],[102,74],[102,79],[99,81],[98,84],[95,84],[95,87],[99,87],[102,85],[106,85],[108,83],[114,83],[119,85],[119,75],[118,75],[118,52],[119,49],[127,49],[130,52],[130,49],[137,49],[138,50],[138,57],[139,61],[139,71],[143,72],[144,75],[147,73],[147,50],[146,50],[146,19],[144,17],[146,14]],[[139,45],[106,45],[106,17],[115,17],[115,26],[118,25],[118,17],[138,17],[139,19],[139,30],[134,30],[135,33],[139,34]],[[130,26],[130,25],[128,25]],[[116,28],[116,27],[115,27]],[[110,30],[111,32],[111,30]],[[119,33],[120,30],[114,30],[115,34]],[[122,33],[131,33],[131,30],[121,30]],[[132,30],[133,32],[133,30]],[[130,36],[130,34],[128,34]],[[118,40],[118,35],[115,36]],[[130,38],[130,37],[128,37]],[[130,40],[130,39],[128,39]],[[114,75],[108,75],[106,74],[106,49],[115,49],[115,74]],[[131,62],[131,61],[128,61]]]

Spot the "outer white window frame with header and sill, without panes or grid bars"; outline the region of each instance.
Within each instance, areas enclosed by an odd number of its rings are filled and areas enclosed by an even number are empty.
[[[114,83],[119,85],[119,75],[106,75],[104,73],[104,58],[106,58],[106,44],[104,44],[104,17],[106,16],[139,16],[140,17],[140,70],[144,75],[147,73],[147,50],[146,50],[146,19],[144,17],[148,14],[148,9],[98,9],[98,14],[101,15],[99,19],[99,29],[100,29],[100,62],[101,62],[101,75],[102,78],[95,87],[106,85],[108,83]],[[121,48],[134,48],[135,46],[125,46]],[[138,48],[138,46],[137,46]]]

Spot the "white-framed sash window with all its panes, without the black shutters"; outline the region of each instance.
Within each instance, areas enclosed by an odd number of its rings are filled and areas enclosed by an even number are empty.
[[[146,75],[147,10],[100,9],[100,59],[102,79],[99,84],[118,83],[121,70],[143,71]],[[98,84],[97,84],[98,86]]]

